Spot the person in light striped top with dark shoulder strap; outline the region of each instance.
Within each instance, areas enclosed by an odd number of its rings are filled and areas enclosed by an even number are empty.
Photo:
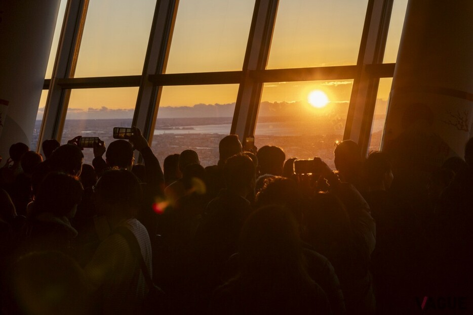
[[[110,170],[99,178],[96,207],[105,216],[112,232],[97,248],[85,267],[87,278],[97,292],[102,314],[135,314],[148,292],[140,264],[126,239],[113,231],[117,227],[130,230],[139,243],[150,274],[151,244],[145,227],[136,219],[142,198],[138,179],[127,170]]]

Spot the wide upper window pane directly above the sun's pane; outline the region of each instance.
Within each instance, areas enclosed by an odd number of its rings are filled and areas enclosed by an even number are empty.
[[[268,69],[357,63],[368,0],[280,0]]]

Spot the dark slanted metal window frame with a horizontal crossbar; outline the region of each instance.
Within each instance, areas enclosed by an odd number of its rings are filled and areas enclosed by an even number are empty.
[[[38,147],[45,139],[60,141],[71,89],[139,87],[133,124],[151,143],[163,86],[239,84],[230,133],[243,140],[254,134],[263,83],[353,79],[344,139],[367,151],[379,78],[392,77],[395,69],[394,63],[382,63],[393,0],[369,0],[356,65],[265,69],[279,0],[256,0],[241,71],[173,74],[165,70],[179,0],[157,0],[141,75],[74,78],[88,3],[67,4],[53,76],[44,84],[49,94]]]

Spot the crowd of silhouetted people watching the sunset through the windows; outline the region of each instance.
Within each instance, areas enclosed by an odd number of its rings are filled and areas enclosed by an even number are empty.
[[[386,153],[365,158],[350,140],[334,150],[336,170],[275,146],[244,151],[235,135],[205,168],[184,150],[162,169],[137,128],[129,141],[86,149],[93,161],[78,140],[46,140],[44,158],[13,144],[0,169],[3,314],[469,305],[459,299],[468,302],[473,284],[473,138],[464,159],[431,172],[415,202]]]

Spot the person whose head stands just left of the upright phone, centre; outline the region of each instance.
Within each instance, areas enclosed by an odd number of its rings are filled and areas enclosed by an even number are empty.
[[[216,197],[221,189],[225,188],[223,180],[223,165],[226,160],[236,154],[243,152],[242,143],[236,134],[229,134],[220,140],[218,144],[219,159],[217,165],[205,168],[209,176],[209,195]]]

